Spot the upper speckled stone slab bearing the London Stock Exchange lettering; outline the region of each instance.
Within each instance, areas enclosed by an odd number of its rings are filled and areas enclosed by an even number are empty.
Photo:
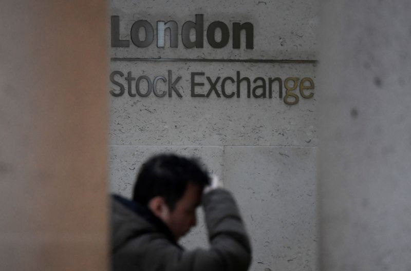
[[[233,9],[235,6],[235,9]],[[218,7],[218,8],[216,8]],[[110,15],[120,16],[120,38],[130,40],[130,28],[135,21],[147,20],[154,28],[154,41],[146,48],[138,48],[130,42],[128,48],[111,47],[111,57],[160,57],[182,59],[315,59],[314,27],[316,25],[316,2],[272,3],[265,1],[167,1],[141,3],[111,1]],[[179,35],[178,48],[157,48],[156,22],[174,20],[178,23],[179,34],[186,21],[195,20],[195,14],[204,14],[204,48],[187,49]],[[229,14],[229,15],[228,15]],[[207,43],[207,26],[213,21],[222,21],[231,26],[233,22],[251,22],[254,25],[254,49],[233,49],[230,43],[220,49],[211,48]],[[279,23],[281,22],[281,23]],[[230,27],[231,29],[231,27]],[[232,31],[232,30],[230,30]],[[168,31],[166,31],[168,35]],[[176,88],[182,94],[178,98],[165,96],[128,96],[127,73],[137,79],[148,76],[153,82],[156,76],[164,76],[167,82],[158,82],[159,92],[167,91],[172,71],[174,81],[181,80]],[[226,76],[236,79],[247,76],[253,81],[257,77],[288,77],[315,79],[313,64],[268,64],[268,63],[193,63],[193,62],[123,62],[111,61],[110,72],[124,74],[115,80],[125,86],[121,97],[110,96],[110,144],[114,145],[259,145],[259,146],[315,146],[316,131],[315,89],[312,99],[303,99],[296,105],[286,105],[278,98],[277,83],[273,83],[273,98],[247,98],[246,83],[241,83],[240,98],[224,98],[221,95],[221,81]],[[196,92],[207,94],[210,88],[206,76],[217,83],[221,95],[212,92],[209,98],[191,96],[191,73],[204,72],[196,82],[204,87],[196,87]],[[251,83],[251,89],[260,82]],[[136,80],[131,84],[132,94],[136,93]],[[228,82],[227,92],[236,85]],[[291,85],[291,83],[290,83]],[[119,87],[113,83],[109,89],[116,93]],[[142,92],[147,89],[145,80],[141,82]],[[298,90],[294,92],[298,93]],[[257,90],[260,93],[260,90]],[[285,89],[283,86],[283,98]],[[268,94],[267,94],[268,97]],[[290,100],[293,100],[292,98]]]

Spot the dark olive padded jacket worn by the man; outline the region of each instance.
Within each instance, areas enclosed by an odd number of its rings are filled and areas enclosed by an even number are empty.
[[[203,196],[209,249],[184,250],[150,210],[113,198],[111,254],[113,271],[245,271],[251,247],[238,208],[223,189]]]

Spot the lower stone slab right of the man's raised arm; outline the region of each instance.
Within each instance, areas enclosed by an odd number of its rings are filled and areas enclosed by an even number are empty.
[[[226,147],[226,187],[250,231],[251,270],[316,270],[315,155],[309,147]]]

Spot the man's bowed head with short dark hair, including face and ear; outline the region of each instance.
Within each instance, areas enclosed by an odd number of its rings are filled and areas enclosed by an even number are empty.
[[[133,200],[150,208],[178,240],[196,224],[195,210],[209,182],[197,160],[160,154],[141,167]]]

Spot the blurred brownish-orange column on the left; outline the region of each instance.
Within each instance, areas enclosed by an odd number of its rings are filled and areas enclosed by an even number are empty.
[[[0,4],[0,270],[106,270],[106,5]]]

